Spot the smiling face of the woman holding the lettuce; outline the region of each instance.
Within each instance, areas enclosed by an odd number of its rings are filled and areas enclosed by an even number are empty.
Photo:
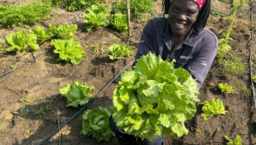
[[[197,20],[199,6],[193,0],[174,0],[169,6],[169,24],[173,34],[186,36]]]

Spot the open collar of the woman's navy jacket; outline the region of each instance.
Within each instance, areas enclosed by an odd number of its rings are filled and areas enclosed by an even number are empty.
[[[171,27],[169,25],[169,19],[165,19],[165,24],[161,27],[160,31],[161,31],[160,34],[163,37],[165,37],[164,41],[166,42],[168,39],[171,42],[171,37],[170,37]],[[193,32],[193,28],[189,31],[187,36],[184,38],[184,40],[182,41],[182,44],[188,45],[190,47],[195,47],[197,35],[193,34],[192,32]]]

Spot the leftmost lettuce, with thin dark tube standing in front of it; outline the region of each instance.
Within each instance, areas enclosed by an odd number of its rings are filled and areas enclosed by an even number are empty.
[[[37,36],[35,34],[28,34],[24,30],[16,33],[9,33],[6,36],[5,41],[9,46],[6,51],[28,51],[28,45],[30,45],[32,51],[39,48],[37,45]],[[26,42],[28,44],[26,44]]]

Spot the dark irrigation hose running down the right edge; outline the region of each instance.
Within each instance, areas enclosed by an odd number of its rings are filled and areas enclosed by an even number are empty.
[[[253,14],[253,5],[254,5],[255,0],[252,2],[252,11],[250,15],[250,20],[251,20],[251,47],[250,47],[250,81],[252,83],[252,96],[253,96],[253,101],[254,101],[254,109],[256,113],[256,99],[255,99],[255,92],[254,92],[254,85],[253,85],[253,76],[252,76],[252,46],[253,46],[253,20],[252,20],[252,14]]]

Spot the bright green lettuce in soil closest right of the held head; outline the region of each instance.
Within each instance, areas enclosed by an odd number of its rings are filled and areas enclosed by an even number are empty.
[[[211,116],[213,115],[217,115],[217,114],[225,115],[225,113],[228,112],[225,110],[225,107],[223,106],[222,101],[219,99],[214,98],[213,100],[210,101],[210,103],[208,101],[204,101],[199,104],[204,105],[202,109],[204,113],[201,114],[201,117],[204,120],[210,119]]]

